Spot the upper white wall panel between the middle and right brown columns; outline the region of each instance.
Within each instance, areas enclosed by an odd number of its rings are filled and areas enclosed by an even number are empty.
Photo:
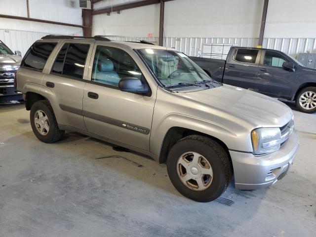
[[[165,3],[166,37],[259,36],[263,0],[174,0]]]

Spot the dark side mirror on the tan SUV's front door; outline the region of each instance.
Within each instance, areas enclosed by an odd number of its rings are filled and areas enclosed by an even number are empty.
[[[123,78],[118,82],[118,88],[121,91],[146,94],[148,92],[148,86],[137,78]]]

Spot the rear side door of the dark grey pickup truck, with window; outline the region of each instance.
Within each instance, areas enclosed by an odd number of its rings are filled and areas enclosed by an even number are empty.
[[[260,49],[237,48],[225,67],[223,83],[258,91],[256,75]]]

